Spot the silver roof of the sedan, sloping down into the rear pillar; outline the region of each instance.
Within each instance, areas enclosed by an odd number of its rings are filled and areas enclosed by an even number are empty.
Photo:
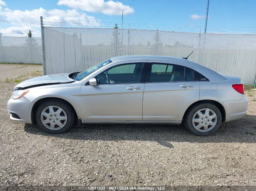
[[[187,59],[183,58],[177,58],[177,57],[171,57],[171,56],[154,56],[154,55],[132,55],[132,56],[117,56],[111,58],[111,60],[114,61],[127,61],[128,59],[134,60],[156,60],[156,61],[168,61],[168,62],[177,62],[177,63],[183,63],[189,66],[192,66],[198,70],[199,73],[201,73],[204,76],[207,76],[207,78],[210,81],[221,81],[226,80],[222,75],[218,74],[217,72],[214,72],[210,68],[204,67],[203,65],[200,65],[196,62],[192,62]]]

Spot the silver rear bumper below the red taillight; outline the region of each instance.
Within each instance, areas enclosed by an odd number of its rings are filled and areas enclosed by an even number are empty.
[[[242,100],[220,101],[226,111],[225,122],[241,119],[247,113],[248,99],[243,95]]]

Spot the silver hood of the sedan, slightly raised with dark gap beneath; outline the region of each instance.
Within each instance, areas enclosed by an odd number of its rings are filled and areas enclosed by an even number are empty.
[[[21,83],[17,84],[15,88],[25,88],[25,87],[35,87],[40,85],[47,85],[47,84],[60,84],[60,83],[67,83],[74,81],[73,79],[69,78],[68,75],[70,73],[63,73],[63,74],[51,74],[51,75],[44,75],[38,76],[35,78],[30,78],[28,80],[22,81]]]

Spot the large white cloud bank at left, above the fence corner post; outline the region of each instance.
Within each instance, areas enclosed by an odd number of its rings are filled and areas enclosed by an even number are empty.
[[[94,25],[99,26],[98,21],[92,16],[87,15],[86,13],[79,12],[75,9],[72,10],[45,10],[44,8],[33,9],[31,11],[25,10],[11,10],[9,8],[1,9],[0,7],[0,23],[8,23],[15,25],[13,27],[8,27],[6,29],[0,29],[0,32],[5,35],[5,33],[15,33],[20,34],[20,36],[26,36],[26,33],[30,29],[32,34],[40,34],[40,16],[45,19],[44,24],[52,25]],[[50,20],[50,19],[61,19],[61,20],[74,20],[74,21],[61,21],[64,23],[57,23],[58,20]],[[83,22],[83,21],[91,21],[91,22]],[[73,22],[73,23],[70,23]],[[75,22],[75,23],[74,23]],[[36,29],[38,28],[38,29]],[[35,31],[33,33],[33,30]],[[5,35],[7,36],[7,35]]]

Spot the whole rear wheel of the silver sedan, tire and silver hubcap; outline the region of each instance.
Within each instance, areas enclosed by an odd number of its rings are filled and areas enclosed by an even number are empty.
[[[221,111],[210,102],[191,107],[185,116],[185,126],[195,135],[211,135],[221,125]]]

